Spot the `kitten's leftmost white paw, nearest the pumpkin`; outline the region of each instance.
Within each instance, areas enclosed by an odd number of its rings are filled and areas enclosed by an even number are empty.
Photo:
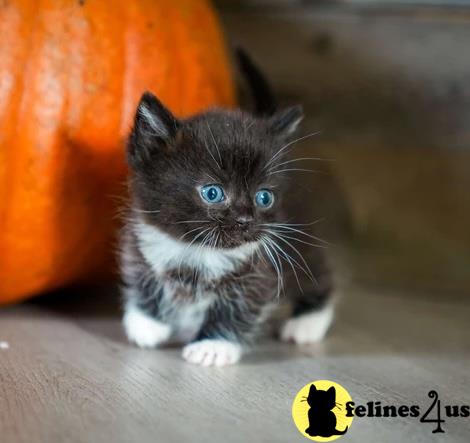
[[[170,326],[149,317],[139,308],[126,308],[122,320],[129,341],[141,348],[155,348],[168,341],[171,335]]]

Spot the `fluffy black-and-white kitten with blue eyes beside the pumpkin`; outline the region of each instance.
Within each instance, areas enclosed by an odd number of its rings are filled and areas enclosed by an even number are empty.
[[[293,315],[283,340],[323,337],[333,316],[328,268],[313,237],[287,223],[295,199],[282,169],[301,119],[299,106],[177,119],[151,93],[142,96],[121,242],[130,341],[178,341],[189,362],[233,364],[280,299]]]

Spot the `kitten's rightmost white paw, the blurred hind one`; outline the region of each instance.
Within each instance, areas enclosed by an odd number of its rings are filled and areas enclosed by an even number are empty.
[[[315,343],[323,339],[333,321],[333,306],[289,319],[281,331],[281,340],[299,345]]]

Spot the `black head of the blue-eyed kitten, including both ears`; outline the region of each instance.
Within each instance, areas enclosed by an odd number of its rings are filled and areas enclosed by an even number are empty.
[[[300,107],[270,118],[210,111],[177,119],[152,94],[137,109],[128,148],[134,209],[176,239],[233,248],[279,221],[283,149]]]

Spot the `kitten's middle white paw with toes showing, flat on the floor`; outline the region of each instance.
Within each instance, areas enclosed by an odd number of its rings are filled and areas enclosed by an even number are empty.
[[[240,360],[242,347],[227,340],[201,340],[183,348],[183,358],[202,366],[226,366]]]

